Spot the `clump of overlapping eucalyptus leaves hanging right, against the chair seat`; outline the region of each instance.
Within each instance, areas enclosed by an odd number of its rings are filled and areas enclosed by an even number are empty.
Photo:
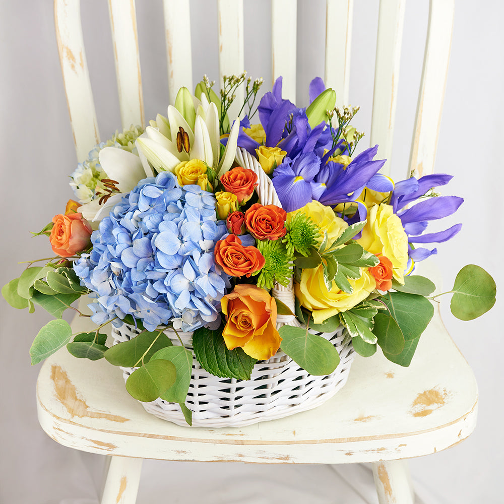
[[[374,334],[384,355],[401,366],[409,366],[418,340],[434,314],[428,299],[418,294],[392,292],[382,298],[388,313],[374,318]]]

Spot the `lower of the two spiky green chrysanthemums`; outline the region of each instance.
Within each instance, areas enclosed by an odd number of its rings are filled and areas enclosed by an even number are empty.
[[[266,263],[257,278],[257,286],[271,289],[275,282],[288,285],[292,278],[292,254],[289,254],[285,244],[280,240],[258,241],[257,248]]]

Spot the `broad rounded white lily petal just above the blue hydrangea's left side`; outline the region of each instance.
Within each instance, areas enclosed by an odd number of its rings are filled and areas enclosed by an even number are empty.
[[[105,147],[98,154],[98,159],[108,178],[119,182],[121,193],[128,193],[145,178],[145,170],[140,158],[131,152]]]

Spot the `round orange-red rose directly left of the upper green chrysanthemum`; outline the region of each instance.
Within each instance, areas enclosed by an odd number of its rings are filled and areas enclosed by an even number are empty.
[[[276,205],[255,203],[245,212],[249,233],[258,240],[278,240],[285,236],[287,212]]]

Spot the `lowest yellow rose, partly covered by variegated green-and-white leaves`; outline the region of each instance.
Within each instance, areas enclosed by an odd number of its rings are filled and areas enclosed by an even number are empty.
[[[362,271],[360,278],[348,279],[353,292],[348,294],[332,282],[331,289],[324,281],[324,267],[305,269],[301,273],[301,282],[294,285],[296,298],[302,306],[312,312],[313,322],[322,324],[336,313],[349,310],[363,301],[374,290],[376,281],[367,270]]]

